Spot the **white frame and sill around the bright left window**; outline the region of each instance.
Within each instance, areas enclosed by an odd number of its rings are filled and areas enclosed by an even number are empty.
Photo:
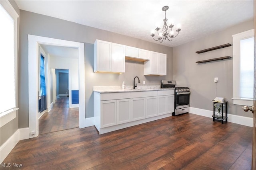
[[[17,107],[17,94],[18,94],[18,86],[17,86],[17,70],[18,70],[18,65],[17,65],[17,56],[18,56],[18,47],[17,47],[17,35],[18,35],[18,13],[15,11],[15,9],[12,7],[10,2],[8,0],[0,0],[1,6],[4,7],[4,9],[8,12],[8,14],[13,18],[14,20],[14,76],[15,76],[15,96],[16,96],[16,108],[8,110],[4,113],[0,114],[0,127],[6,125],[8,122],[12,121],[12,119],[16,118],[16,111],[18,110]]]

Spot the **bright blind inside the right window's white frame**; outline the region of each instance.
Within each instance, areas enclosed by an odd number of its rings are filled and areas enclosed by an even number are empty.
[[[253,98],[254,38],[242,39],[240,43],[240,97]]]

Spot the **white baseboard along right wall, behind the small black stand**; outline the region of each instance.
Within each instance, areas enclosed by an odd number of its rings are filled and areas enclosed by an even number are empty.
[[[212,118],[213,111],[205,110],[205,109],[198,109],[195,107],[189,107],[189,113]],[[224,115],[225,115],[225,113],[224,113]],[[232,115],[232,114],[228,114],[228,122],[237,123],[237,124],[245,125],[245,126],[249,126],[249,127],[252,127],[252,125],[253,125],[253,121],[252,121],[251,117],[244,117],[244,116]]]

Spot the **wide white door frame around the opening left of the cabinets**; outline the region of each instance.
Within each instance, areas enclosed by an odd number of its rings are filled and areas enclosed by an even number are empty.
[[[28,35],[28,118],[29,138],[37,137],[38,126],[38,49],[40,44],[57,45],[78,48],[79,69],[79,128],[85,125],[85,73],[84,73],[84,43]]]

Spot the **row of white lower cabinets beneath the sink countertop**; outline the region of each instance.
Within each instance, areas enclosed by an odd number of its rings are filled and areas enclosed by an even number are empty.
[[[94,126],[100,134],[171,116],[174,90],[94,92]]]

